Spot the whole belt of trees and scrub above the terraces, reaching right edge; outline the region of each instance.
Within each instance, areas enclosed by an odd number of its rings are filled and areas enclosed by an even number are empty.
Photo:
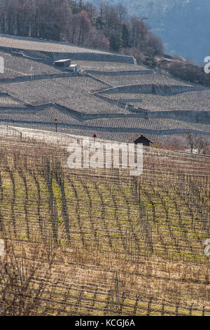
[[[195,65],[192,60],[183,60],[179,55],[174,54],[171,58],[165,55],[162,38],[152,32],[148,17],[130,15],[129,1],[127,6],[123,1],[110,1],[96,1],[95,6],[94,1],[85,0],[0,0],[0,33],[67,41],[78,46],[132,55],[139,64],[159,67],[195,84],[210,85],[210,74],[205,74],[202,66]],[[178,8],[179,1],[174,2]],[[141,1],[141,6],[144,3]],[[154,1],[148,3],[155,6]],[[174,6],[167,6],[165,11],[168,8],[172,10]],[[142,10],[144,13],[148,13],[146,7]],[[154,7],[151,17],[159,14],[162,18],[163,13],[156,13]]]

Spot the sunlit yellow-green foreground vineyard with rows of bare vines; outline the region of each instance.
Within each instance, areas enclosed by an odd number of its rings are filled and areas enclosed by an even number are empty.
[[[145,147],[139,177],[69,169],[75,136],[23,132],[1,126],[0,314],[210,315],[209,157]]]

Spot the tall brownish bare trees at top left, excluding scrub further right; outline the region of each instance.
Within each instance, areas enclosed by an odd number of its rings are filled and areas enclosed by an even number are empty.
[[[83,0],[1,0],[0,32],[69,41],[79,46],[118,52],[141,49],[155,55],[162,39],[151,33],[144,18],[129,17],[122,4]]]

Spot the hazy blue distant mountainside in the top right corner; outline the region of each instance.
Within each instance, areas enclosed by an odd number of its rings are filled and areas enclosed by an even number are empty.
[[[98,5],[102,0],[92,0]],[[130,15],[148,18],[153,33],[162,37],[167,53],[196,63],[209,55],[209,0],[107,0],[125,4]]]

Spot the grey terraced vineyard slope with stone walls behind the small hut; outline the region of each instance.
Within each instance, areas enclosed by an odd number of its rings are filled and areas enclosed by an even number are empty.
[[[184,141],[189,132],[209,138],[209,88],[132,56],[15,37],[1,37],[0,55],[3,123],[53,131],[56,118],[60,132],[124,142],[140,133],[153,141]],[[54,65],[70,55],[78,74]]]

